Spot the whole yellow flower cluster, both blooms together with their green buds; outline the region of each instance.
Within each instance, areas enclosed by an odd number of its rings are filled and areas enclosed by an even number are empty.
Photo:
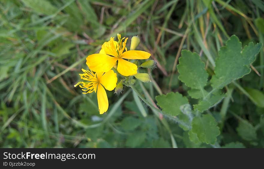
[[[129,85],[135,82],[133,77],[149,82],[149,74],[137,73],[138,66],[132,63],[131,60],[148,59],[150,53],[146,51],[134,50],[137,48],[140,40],[138,36],[131,39],[130,50],[127,49],[126,43],[128,38],[121,38],[117,34],[118,41],[111,37],[108,42],[104,42],[99,54],[91,54],[86,58],[86,65],[90,70],[82,69],[83,73],[79,74],[83,81],[78,82],[74,87],[82,88],[83,94],[97,92],[98,108],[100,114],[103,114],[108,109],[108,98],[105,89],[112,91],[116,88],[116,93],[123,89],[123,83]],[[153,60],[148,60],[142,63],[139,67],[147,68],[155,65]],[[117,83],[117,74],[122,76],[122,79]],[[132,78],[130,78],[132,77]]]

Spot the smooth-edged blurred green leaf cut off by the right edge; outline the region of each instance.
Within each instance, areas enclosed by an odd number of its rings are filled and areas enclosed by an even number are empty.
[[[258,107],[264,107],[264,94],[263,92],[252,89],[252,88],[245,88],[247,93],[251,96],[250,100]]]

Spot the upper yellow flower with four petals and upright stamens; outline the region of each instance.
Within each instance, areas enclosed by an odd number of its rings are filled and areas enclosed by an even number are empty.
[[[92,71],[107,72],[118,61],[117,71],[123,76],[132,76],[137,74],[137,65],[125,59],[148,59],[150,57],[150,53],[145,51],[128,51],[126,48],[128,38],[121,39],[120,34],[117,34],[117,37],[118,42],[111,37],[110,41],[104,42],[99,54],[91,54],[86,58],[86,64]]]

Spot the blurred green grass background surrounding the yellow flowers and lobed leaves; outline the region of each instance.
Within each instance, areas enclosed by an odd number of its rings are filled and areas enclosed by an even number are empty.
[[[139,35],[138,49],[158,62],[151,83],[137,82],[139,92],[151,102],[170,91],[186,95],[174,64],[180,51],[200,54],[213,74],[203,51],[216,58],[232,34],[243,46],[263,43],[262,0],[2,0],[0,11],[0,147],[264,147],[263,50],[253,63],[262,77],[252,71],[237,82],[257,92],[235,88],[208,110],[223,125],[216,145],[191,142],[128,87],[119,96],[107,91],[104,115],[95,93],[73,87],[86,56],[120,33]]]

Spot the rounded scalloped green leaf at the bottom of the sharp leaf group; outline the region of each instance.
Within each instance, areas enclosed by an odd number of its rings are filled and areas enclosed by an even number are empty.
[[[193,118],[191,132],[197,134],[199,141],[207,144],[215,144],[216,137],[220,134],[214,117],[209,114]]]

